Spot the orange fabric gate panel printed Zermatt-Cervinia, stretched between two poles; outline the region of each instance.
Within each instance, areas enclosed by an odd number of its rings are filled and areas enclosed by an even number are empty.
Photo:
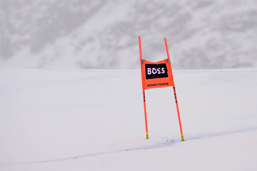
[[[148,65],[154,64],[154,65]],[[162,65],[157,65],[162,64]],[[156,66],[156,67],[155,67]],[[166,70],[166,68],[167,70]],[[165,77],[156,78],[160,75],[167,74]],[[174,87],[173,75],[170,61],[167,59],[159,62],[149,62],[143,59],[141,63],[141,76],[143,89],[160,88],[160,87]],[[153,78],[149,78],[153,77]]]

